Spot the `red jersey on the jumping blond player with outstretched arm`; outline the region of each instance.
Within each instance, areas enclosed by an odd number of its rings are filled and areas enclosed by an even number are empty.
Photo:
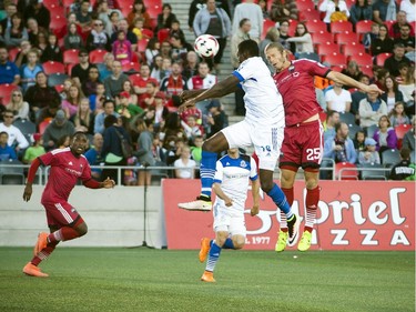
[[[323,110],[316,101],[314,76],[326,77],[329,71],[318,62],[301,59],[273,76],[283,97],[286,127],[301,123]]]

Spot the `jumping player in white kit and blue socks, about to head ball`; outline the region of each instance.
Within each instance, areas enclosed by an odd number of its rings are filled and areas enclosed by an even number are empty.
[[[245,119],[223,129],[206,140],[202,145],[201,195],[196,201],[179,203],[186,210],[207,211],[212,209],[211,188],[215,174],[217,153],[232,148],[254,145],[258,157],[260,181],[262,190],[285,213],[288,228],[288,244],[297,240],[297,218],[292,212],[286,197],[273,181],[283,141],[284,110],[282,95],[270,74],[267,66],[260,58],[258,46],[254,40],[239,44],[240,67],[232,76],[207,90],[184,91],[185,101],[180,111],[192,108],[195,103],[221,98],[235,92],[241,87],[245,91]]]

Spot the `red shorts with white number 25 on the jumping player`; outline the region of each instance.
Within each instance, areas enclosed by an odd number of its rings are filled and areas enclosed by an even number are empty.
[[[278,167],[318,169],[324,153],[323,134],[319,120],[286,127]]]

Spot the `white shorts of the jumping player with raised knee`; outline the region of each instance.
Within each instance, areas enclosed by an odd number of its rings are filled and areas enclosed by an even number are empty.
[[[245,120],[221,130],[231,149],[253,147],[258,157],[258,168],[274,171],[283,142],[284,128],[253,125]]]

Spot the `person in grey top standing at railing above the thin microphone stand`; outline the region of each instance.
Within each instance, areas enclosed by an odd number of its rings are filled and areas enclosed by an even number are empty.
[[[148,168],[154,165],[155,160],[153,158],[153,133],[149,131],[146,121],[139,118],[135,122],[135,130],[139,133],[138,149],[134,151],[134,155],[138,158],[138,165]],[[139,170],[138,185],[150,185],[152,173],[150,170]]]

